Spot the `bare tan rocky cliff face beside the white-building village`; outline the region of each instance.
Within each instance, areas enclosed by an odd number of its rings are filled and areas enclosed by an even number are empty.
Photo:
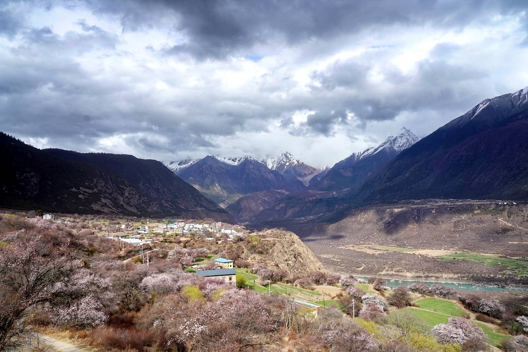
[[[314,253],[293,232],[270,229],[256,235],[260,236],[258,246],[264,254],[249,255],[246,259],[250,262],[286,270],[290,276],[305,276],[314,271],[326,272]]]

